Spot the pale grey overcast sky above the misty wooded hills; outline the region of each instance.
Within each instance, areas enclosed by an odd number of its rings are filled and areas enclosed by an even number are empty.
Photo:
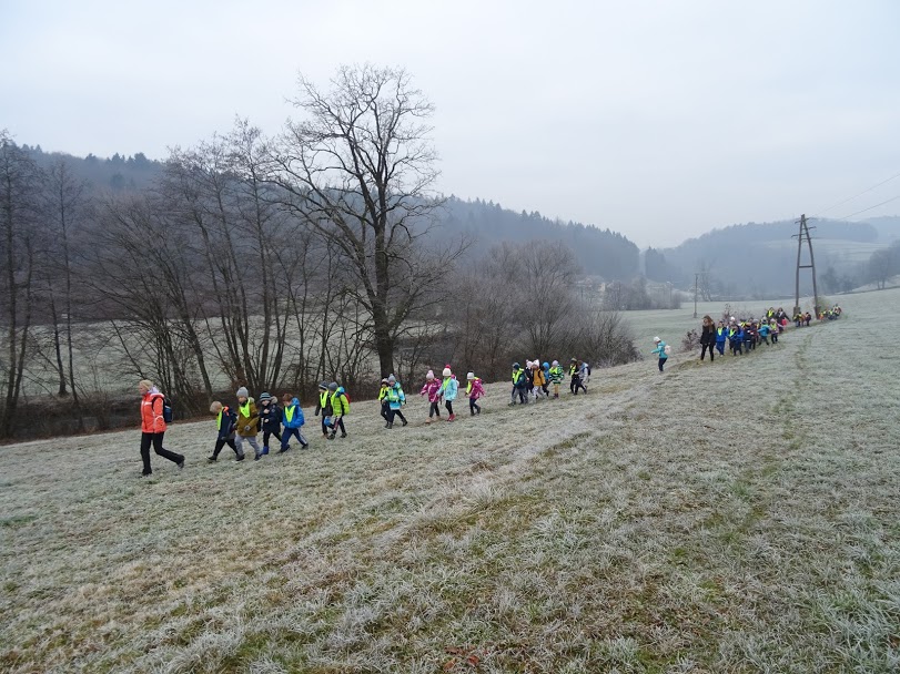
[[[402,65],[445,194],[671,245],[900,173],[899,33],[897,0],[0,0],[0,129],[164,159],[235,115],[277,132],[299,72]]]

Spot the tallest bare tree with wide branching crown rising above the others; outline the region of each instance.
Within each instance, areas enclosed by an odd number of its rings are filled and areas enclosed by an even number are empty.
[[[340,69],[328,91],[301,78],[294,104],[304,116],[273,144],[270,180],[342,252],[351,292],[371,315],[381,371],[391,372],[397,338],[434,300],[453,258],[423,257],[418,245],[439,205],[434,109],[405,71],[368,64]]]

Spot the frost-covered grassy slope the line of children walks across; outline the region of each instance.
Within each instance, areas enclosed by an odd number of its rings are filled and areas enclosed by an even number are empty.
[[[208,466],[211,420],[150,480],[135,431],[2,447],[0,671],[897,672],[900,290],[841,303],[586,397],[309,415],[259,463]]]

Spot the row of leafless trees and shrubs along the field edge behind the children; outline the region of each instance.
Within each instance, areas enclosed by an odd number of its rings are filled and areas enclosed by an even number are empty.
[[[465,241],[429,244],[433,110],[405,72],[344,68],[328,91],[301,80],[295,104],[280,135],[239,121],[124,194],[0,136],[0,437],[28,426],[30,391],[64,398],[84,430],[108,405],[97,389],[138,377],[190,415],[236,385],[353,390],[423,364],[491,376],[516,353],[613,348],[564,246],[503,245],[459,266]]]

